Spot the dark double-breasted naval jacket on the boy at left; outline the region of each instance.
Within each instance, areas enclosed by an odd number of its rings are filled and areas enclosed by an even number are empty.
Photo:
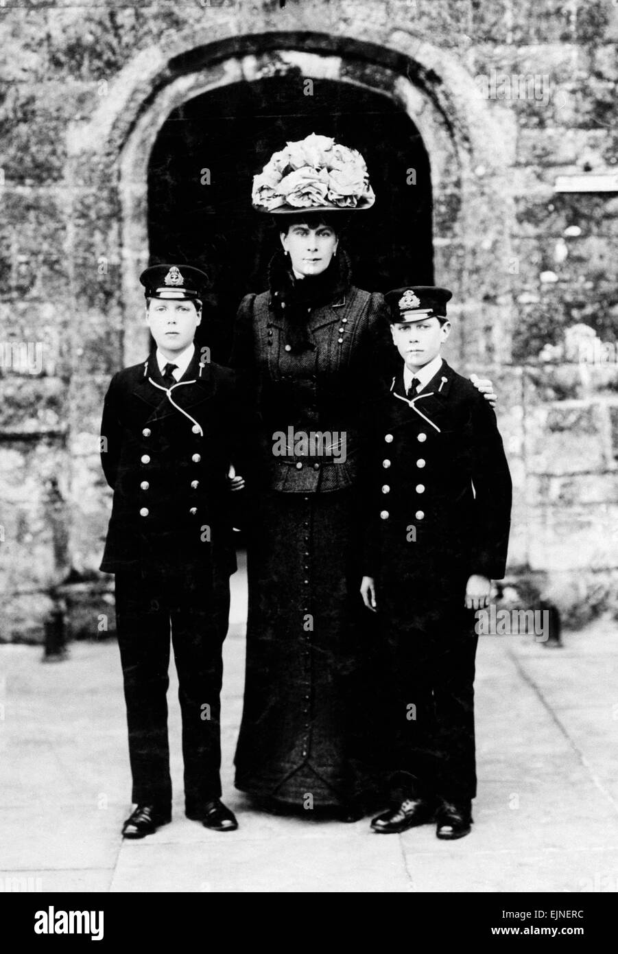
[[[183,573],[214,559],[236,570],[227,473],[233,462],[246,476],[248,440],[234,372],[197,352],[169,396],[155,354],[115,374],[101,423],[113,487],[101,570]]]

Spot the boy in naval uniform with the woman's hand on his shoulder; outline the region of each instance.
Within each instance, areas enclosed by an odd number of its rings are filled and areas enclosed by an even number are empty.
[[[361,594],[378,611],[387,657],[381,834],[437,821],[467,835],[476,796],[475,611],[505,574],[511,480],[496,417],[441,357],[445,288],[386,295],[402,356],[372,427]]]

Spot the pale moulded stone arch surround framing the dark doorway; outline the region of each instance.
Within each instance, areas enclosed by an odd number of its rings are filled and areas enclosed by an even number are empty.
[[[135,277],[149,259],[149,158],[167,117],[201,93],[287,75],[300,84],[304,77],[332,79],[401,104],[431,166],[435,280],[456,294],[450,353],[460,369],[490,371],[501,393],[508,388],[506,404],[521,410],[521,371],[501,369],[510,362],[515,311],[507,269],[516,231],[508,183],[512,114],[489,113],[456,52],[412,32],[383,28],[375,32],[379,45],[333,29],[232,36],[234,23],[221,21],[215,38],[205,28],[168,35],[104,83],[90,120],[70,128],[63,265],[71,320],[63,343],[69,552],[77,566],[98,566],[107,526],[96,435],[110,376],[142,360],[148,346]],[[512,427],[521,438],[519,418]]]

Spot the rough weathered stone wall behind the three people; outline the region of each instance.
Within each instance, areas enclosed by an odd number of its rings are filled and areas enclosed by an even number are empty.
[[[618,171],[615,3],[287,0],[281,10],[278,0],[28,8],[6,0],[0,639],[40,639],[50,588],[70,570],[96,578],[110,506],[100,407],[113,371],[141,346],[127,282],[148,257],[134,229],[145,183],[122,182],[126,142],[155,122],[149,109],[167,84],[181,92],[192,71],[225,72],[209,68],[217,41],[232,56],[239,38],[245,77],[283,69],[260,52],[275,31],[283,47],[294,46],[286,35],[319,34],[323,53],[319,36],[311,43],[323,63],[340,38],[342,78],[390,84],[415,122],[426,118],[422,130],[435,126],[425,145],[433,169],[443,166],[436,280],[463,300],[454,359],[499,386],[516,484],[512,566],[538,573],[571,621],[615,606],[618,195],[554,191],[559,175]],[[348,40],[366,45],[362,67],[358,51],[348,63]],[[200,49],[210,53],[198,52],[192,67],[185,54]],[[492,98],[492,71],[496,86],[499,75],[541,77],[542,94],[507,97],[503,80]],[[488,97],[478,92],[484,79]],[[602,360],[582,362],[586,332],[572,331],[581,324],[605,346],[594,352]],[[95,635],[109,602],[93,595],[92,606],[84,631]]]

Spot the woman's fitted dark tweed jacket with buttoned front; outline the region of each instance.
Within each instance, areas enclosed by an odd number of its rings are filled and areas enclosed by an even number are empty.
[[[344,256],[338,268],[330,301],[306,308],[308,343],[301,350],[288,342],[285,292],[272,281],[238,309],[230,363],[258,410],[261,476],[272,490],[327,492],[359,476],[362,420],[387,353],[386,306],[381,294],[351,284]],[[274,452],[281,434],[286,441],[323,434],[325,450],[316,453],[318,439],[306,449],[287,441],[286,453]]]

